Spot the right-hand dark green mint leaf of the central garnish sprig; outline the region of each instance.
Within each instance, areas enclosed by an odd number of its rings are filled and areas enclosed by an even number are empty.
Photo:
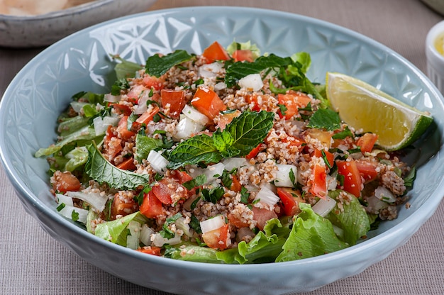
[[[239,150],[238,156],[243,157],[257,145],[262,143],[274,123],[274,113],[267,111],[244,111],[233,118],[222,133],[230,133],[233,143],[229,150]]]

